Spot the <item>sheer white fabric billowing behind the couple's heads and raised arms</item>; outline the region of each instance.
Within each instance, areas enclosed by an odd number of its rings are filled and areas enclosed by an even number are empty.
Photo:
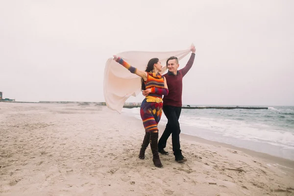
[[[167,70],[166,61],[171,56],[178,60],[190,53],[190,49],[169,52],[125,51],[117,55],[131,66],[146,70],[151,58],[159,58],[162,63],[162,72]],[[123,104],[130,96],[136,97],[141,93],[141,77],[130,73],[122,65],[109,58],[104,70],[104,98],[108,108],[122,112]]]

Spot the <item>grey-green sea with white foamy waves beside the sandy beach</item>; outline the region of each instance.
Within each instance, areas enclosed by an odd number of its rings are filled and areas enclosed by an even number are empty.
[[[260,107],[269,109],[182,109],[181,133],[294,160],[294,106]],[[140,108],[122,113],[141,120]]]

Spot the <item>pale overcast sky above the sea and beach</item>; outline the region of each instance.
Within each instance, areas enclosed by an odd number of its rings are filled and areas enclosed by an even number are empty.
[[[194,43],[184,104],[294,105],[293,10],[294,0],[0,0],[0,91],[104,101],[113,54]]]

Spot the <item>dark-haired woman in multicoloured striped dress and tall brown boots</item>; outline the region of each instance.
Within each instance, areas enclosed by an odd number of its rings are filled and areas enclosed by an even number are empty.
[[[145,72],[130,66],[122,58],[114,55],[114,60],[131,73],[142,77],[142,90],[147,90],[149,95],[141,104],[140,114],[145,128],[145,137],[140,149],[139,158],[145,159],[145,150],[149,145],[153,154],[153,163],[156,167],[162,168],[161,161],[158,155],[158,127],[162,114],[162,96],[169,94],[167,81],[159,72],[162,71],[162,65],[158,58],[152,58],[147,64]]]

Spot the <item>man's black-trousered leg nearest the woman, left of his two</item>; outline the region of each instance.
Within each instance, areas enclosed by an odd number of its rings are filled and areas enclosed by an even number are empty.
[[[163,106],[163,112],[168,119],[168,123],[166,125],[164,132],[162,133],[162,136],[160,137],[158,141],[158,150],[161,153],[162,153],[162,150],[167,146],[167,141],[170,135],[172,134],[173,119],[177,118],[173,108],[174,108],[173,106],[169,106],[169,105]]]

